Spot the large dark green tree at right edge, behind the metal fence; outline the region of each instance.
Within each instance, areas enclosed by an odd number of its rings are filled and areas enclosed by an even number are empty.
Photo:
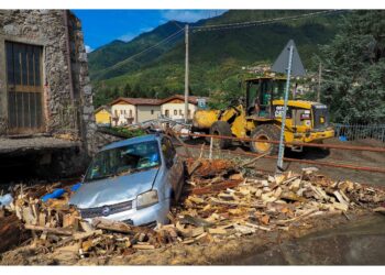
[[[354,11],[322,47],[322,102],[342,123],[385,120],[385,11]]]

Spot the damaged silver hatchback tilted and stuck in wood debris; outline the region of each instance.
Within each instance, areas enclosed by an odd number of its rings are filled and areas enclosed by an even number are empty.
[[[116,142],[94,157],[69,205],[88,221],[105,217],[133,226],[165,224],[172,202],[180,197],[184,170],[166,135]]]

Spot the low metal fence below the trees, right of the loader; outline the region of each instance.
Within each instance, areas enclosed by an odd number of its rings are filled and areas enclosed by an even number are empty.
[[[336,136],[348,140],[374,139],[385,142],[385,124],[341,124],[332,123]]]

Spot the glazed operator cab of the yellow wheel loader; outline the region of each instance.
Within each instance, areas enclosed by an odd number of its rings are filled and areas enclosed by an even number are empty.
[[[248,116],[274,118],[273,100],[284,99],[285,78],[257,77],[246,79]]]

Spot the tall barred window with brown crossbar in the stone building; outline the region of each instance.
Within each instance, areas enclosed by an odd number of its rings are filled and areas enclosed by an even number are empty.
[[[44,131],[41,46],[6,42],[10,133]]]

